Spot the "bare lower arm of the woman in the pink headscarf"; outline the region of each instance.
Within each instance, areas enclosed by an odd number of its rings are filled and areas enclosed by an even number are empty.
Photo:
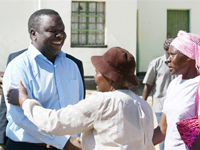
[[[152,139],[154,145],[157,145],[158,143],[164,141],[166,131],[167,131],[166,115],[162,113],[160,124],[157,126],[157,128],[154,129],[154,134]]]

